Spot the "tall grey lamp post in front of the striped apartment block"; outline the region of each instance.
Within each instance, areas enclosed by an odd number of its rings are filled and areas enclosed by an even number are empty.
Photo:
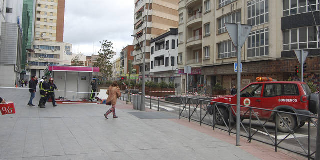
[[[141,96],[140,111],[145,111],[145,51],[146,51],[146,33],[147,33],[147,30],[148,30],[149,9],[150,9],[150,0],[148,2],[148,10],[146,12],[144,54],[142,55],[142,58],[143,58],[143,64],[142,64],[142,96]]]

